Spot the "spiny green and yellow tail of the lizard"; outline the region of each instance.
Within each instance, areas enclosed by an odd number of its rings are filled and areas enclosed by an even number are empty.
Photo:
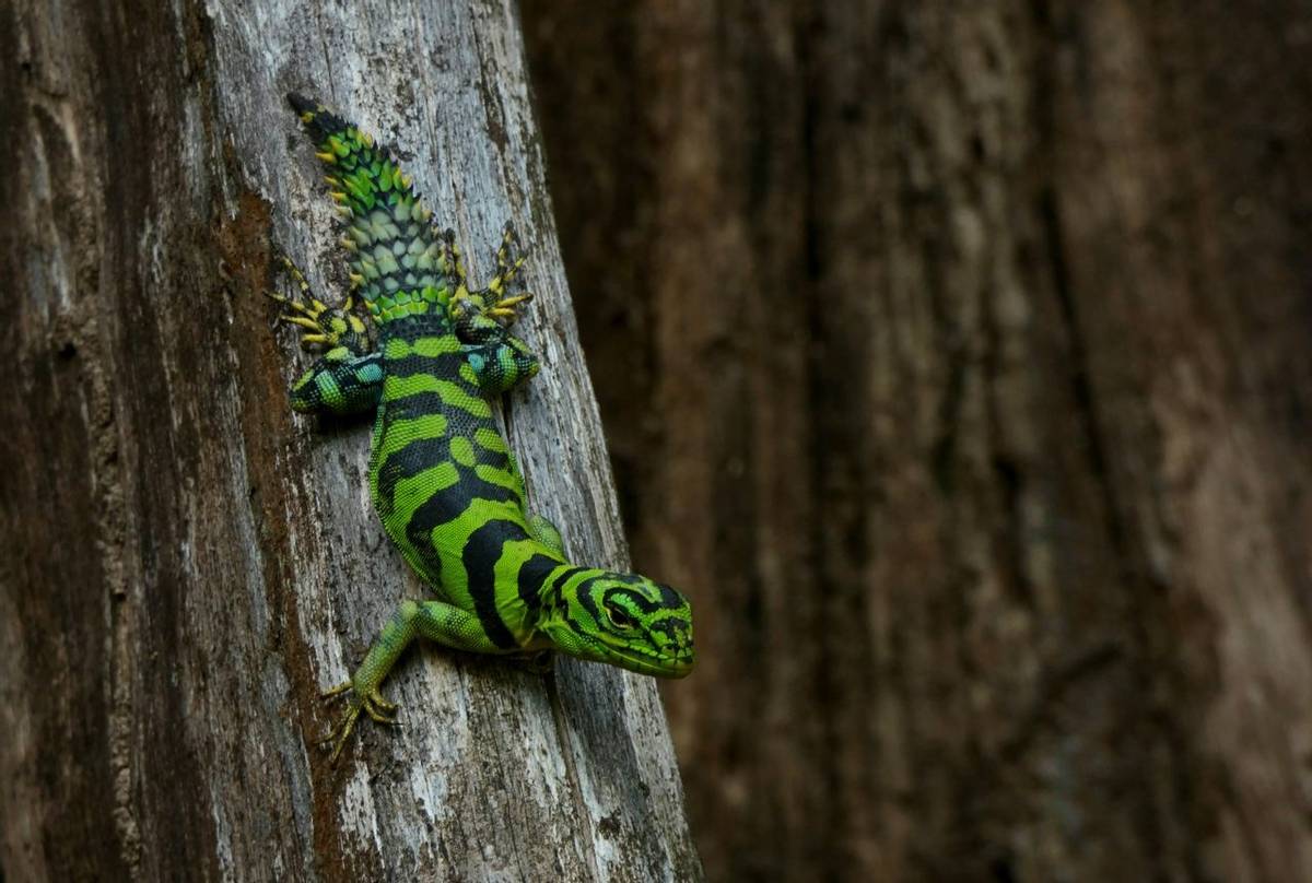
[[[409,176],[387,147],[318,101],[297,93],[287,101],[329,169],[324,180],[345,224],[341,244],[350,252],[352,283],[374,319],[388,323],[429,312],[445,318],[453,258]]]

